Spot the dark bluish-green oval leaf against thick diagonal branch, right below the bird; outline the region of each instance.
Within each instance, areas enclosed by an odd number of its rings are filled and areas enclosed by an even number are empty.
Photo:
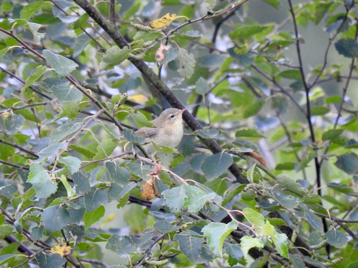
[[[232,157],[228,153],[217,153],[203,160],[200,169],[208,180],[216,179],[222,175],[232,164]]]

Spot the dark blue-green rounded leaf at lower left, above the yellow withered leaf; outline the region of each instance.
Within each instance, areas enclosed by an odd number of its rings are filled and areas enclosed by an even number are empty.
[[[62,229],[70,220],[68,211],[60,205],[50,206],[41,212],[41,221],[48,234]]]

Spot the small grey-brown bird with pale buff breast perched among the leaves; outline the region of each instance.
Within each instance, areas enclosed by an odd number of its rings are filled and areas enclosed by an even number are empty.
[[[137,136],[148,138],[155,144],[161,144],[170,148],[175,148],[179,145],[183,138],[183,123],[182,114],[187,108],[183,110],[170,108],[164,110],[158,118],[152,120],[155,128],[144,126],[135,131]],[[153,144],[144,145],[148,153],[154,153]]]

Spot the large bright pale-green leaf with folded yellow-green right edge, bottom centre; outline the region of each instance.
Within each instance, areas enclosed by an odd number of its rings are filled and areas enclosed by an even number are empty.
[[[202,232],[208,237],[208,244],[212,252],[222,258],[222,248],[226,237],[238,227],[235,221],[228,224],[212,222],[206,225]]]

